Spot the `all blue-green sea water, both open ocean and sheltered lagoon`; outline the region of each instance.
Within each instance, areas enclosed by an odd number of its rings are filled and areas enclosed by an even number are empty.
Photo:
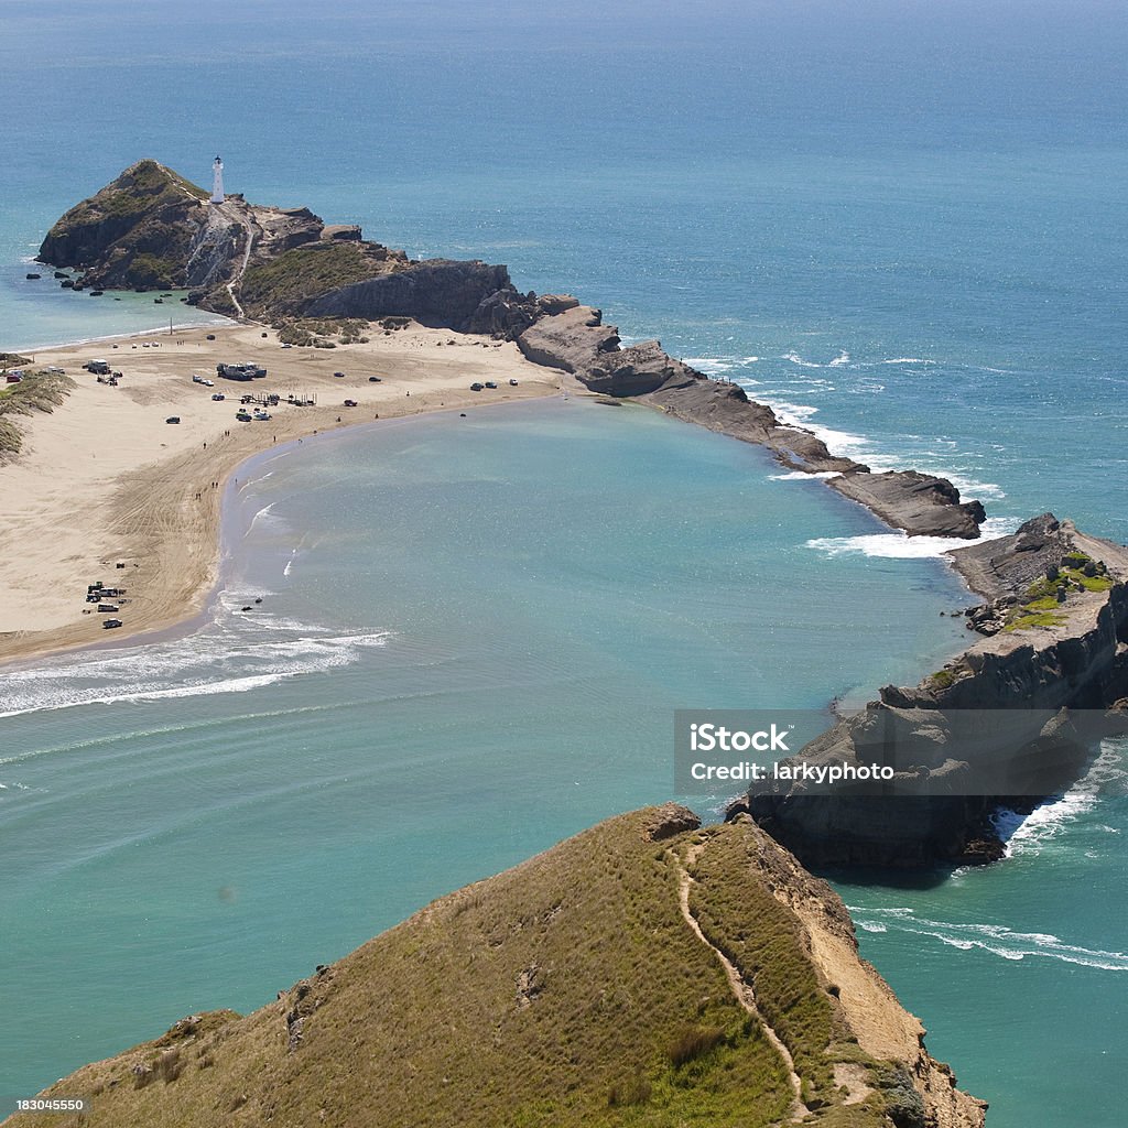
[[[205,182],[220,152],[228,191],[504,262],[836,449],[948,474],[992,530],[1128,540],[1118,5],[0,19],[0,349],[158,327],[27,259],[134,160]],[[638,409],[374,428],[240,484],[206,623],[0,678],[6,1101],[668,797],[677,707],[821,707],[962,642],[942,546]],[[993,1128],[1120,1122],[1122,756],[1001,865],[839,885]]]

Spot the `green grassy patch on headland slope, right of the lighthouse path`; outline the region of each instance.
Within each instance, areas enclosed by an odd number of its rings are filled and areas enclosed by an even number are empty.
[[[312,243],[252,266],[243,276],[239,301],[252,316],[298,312],[314,298],[388,273],[355,243]]]

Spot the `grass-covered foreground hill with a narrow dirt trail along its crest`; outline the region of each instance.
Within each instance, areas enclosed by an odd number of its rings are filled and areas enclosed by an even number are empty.
[[[10,1128],[982,1122],[750,821],[611,819],[444,897],[262,1010],[192,1015]]]

